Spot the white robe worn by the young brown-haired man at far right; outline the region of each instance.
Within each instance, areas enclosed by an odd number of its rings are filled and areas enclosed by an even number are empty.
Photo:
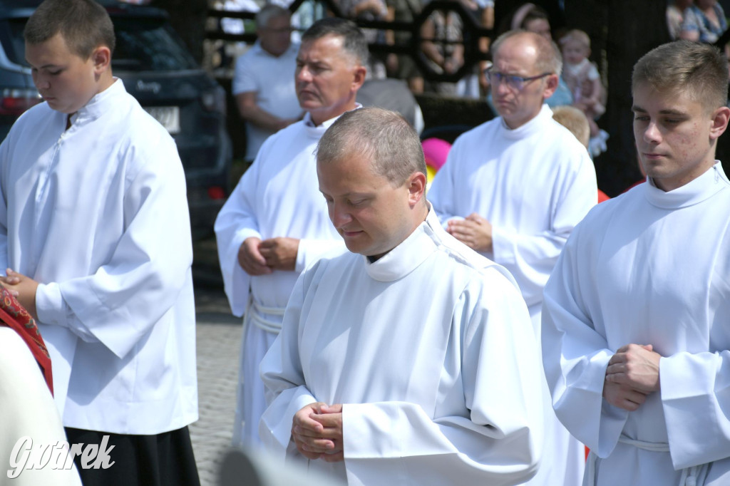
[[[669,192],[639,185],[578,225],[545,288],[542,352],[558,417],[598,456],[596,485],[730,484],[729,324],[720,163]],[[630,343],[662,356],[661,390],[634,412],[602,397]]]

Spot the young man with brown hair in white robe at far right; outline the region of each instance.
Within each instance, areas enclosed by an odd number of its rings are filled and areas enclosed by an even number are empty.
[[[730,181],[715,161],[727,82],[707,45],[639,60],[648,182],[585,217],[545,288],[545,372],[591,447],[585,485],[730,484]]]

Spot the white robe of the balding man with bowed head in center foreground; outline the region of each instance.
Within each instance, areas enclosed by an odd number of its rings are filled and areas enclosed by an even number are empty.
[[[261,439],[280,458],[293,415],[343,404],[353,485],[514,485],[537,471],[539,352],[512,277],[426,222],[374,263],[346,253],[301,274],[261,363]],[[545,404],[547,405],[547,404]]]

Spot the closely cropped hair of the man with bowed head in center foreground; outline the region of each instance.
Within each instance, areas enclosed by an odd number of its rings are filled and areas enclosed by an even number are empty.
[[[426,175],[418,134],[404,117],[388,109],[353,109],[339,117],[320,139],[317,163],[332,163],[353,153],[367,158],[374,174],[396,188],[415,172]]]

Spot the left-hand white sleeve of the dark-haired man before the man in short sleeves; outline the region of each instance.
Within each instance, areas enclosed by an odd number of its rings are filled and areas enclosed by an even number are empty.
[[[215,218],[215,239],[223,285],[231,312],[238,317],[246,311],[250,285],[250,275],[238,263],[238,250],[245,239],[261,238],[256,217],[256,186],[260,166],[261,159],[257,157]]]

